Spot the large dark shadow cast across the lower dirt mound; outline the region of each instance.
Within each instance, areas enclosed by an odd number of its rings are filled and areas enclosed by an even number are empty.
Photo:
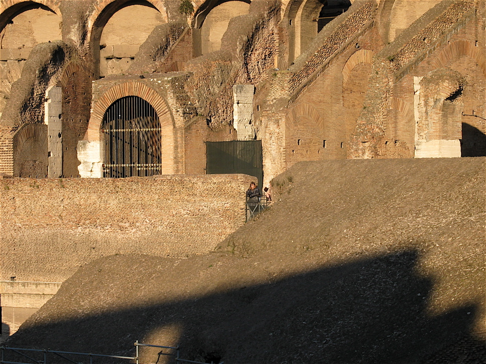
[[[177,324],[182,357],[206,362],[486,362],[485,343],[472,333],[483,302],[430,314],[434,280],[417,272],[418,258],[401,250],[199,298],[52,321],[22,328],[9,345],[133,355],[136,339]]]

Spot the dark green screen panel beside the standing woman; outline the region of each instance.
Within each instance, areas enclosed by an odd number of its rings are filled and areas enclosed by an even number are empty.
[[[206,173],[244,173],[263,184],[262,141],[206,142]]]

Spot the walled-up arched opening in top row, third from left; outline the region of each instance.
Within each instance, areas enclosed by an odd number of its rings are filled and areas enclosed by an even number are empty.
[[[205,55],[219,51],[221,38],[228,29],[229,21],[248,14],[250,2],[219,2],[208,7],[196,16],[194,32],[194,54]]]

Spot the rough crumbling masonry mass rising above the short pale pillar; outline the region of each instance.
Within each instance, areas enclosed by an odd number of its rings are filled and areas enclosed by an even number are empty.
[[[197,102],[198,114],[208,118],[211,128],[233,120],[232,85],[257,84],[274,64],[279,17],[280,4],[255,1],[248,15],[231,19],[219,51],[186,63],[186,71],[193,72],[187,90]]]

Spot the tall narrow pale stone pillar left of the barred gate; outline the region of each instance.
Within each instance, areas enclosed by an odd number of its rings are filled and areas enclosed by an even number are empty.
[[[59,178],[63,174],[62,99],[61,87],[51,86],[46,90],[44,123],[47,124],[49,178]]]

